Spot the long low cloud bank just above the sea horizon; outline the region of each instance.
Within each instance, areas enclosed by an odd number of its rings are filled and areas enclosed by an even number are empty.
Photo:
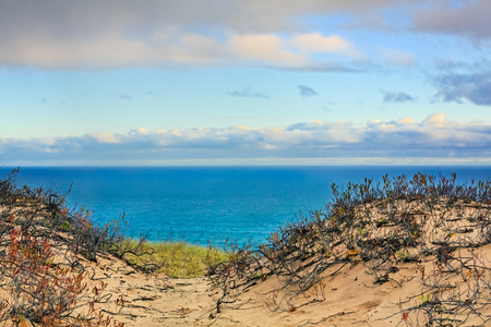
[[[147,131],[124,134],[0,138],[0,153],[11,166],[65,165],[275,165],[327,162],[343,165],[418,165],[429,158],[489,165],[491,125],[447,121],[444,113],[415,123],[410,118],[366,125],[311,121],[287,128]],[[356,158],[364,158],[363,162]],[[440,161],[434,161],[436,164]],[[431,162],[430,162],[431,164]]]

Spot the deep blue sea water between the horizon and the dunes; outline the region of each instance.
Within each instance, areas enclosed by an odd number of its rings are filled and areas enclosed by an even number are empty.
[[[3,175],[9,168],[0,168]],[[86,205],[104,223],[125,213],[130,237],[221,245],[225,239],[258,244],[299,211],[322,209],[330,184],[380,180],[421,171],[457,173],[459,182],[491,180],[491,167],[25,167],[17,184],[56,187],[71,183],[69,206]]]

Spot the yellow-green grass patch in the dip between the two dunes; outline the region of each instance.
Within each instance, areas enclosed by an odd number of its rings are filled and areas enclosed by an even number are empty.
[[[187,242],[144,242],[124,241],[129,249],[137,249],[144,253],[136,257],[131,253],[124,255],[130,264],[154,266],[155,272],[170,277],[192,278],[205,276],[211,265],[226,259],[226,253],[214,247],[192,245]]]

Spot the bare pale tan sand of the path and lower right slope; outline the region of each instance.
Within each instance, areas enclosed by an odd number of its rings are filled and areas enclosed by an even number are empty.
[[[469,235],[472,233],[463,231],[455,239]],[[488,268],[480,281],[491,284],[488,259],[491,258],[491,245],[474,251]],[[455,256],[469,255],[462,249]],[[86,269],[85,281],[89,290],[101,281],[107,283],[104,292],[108,294],[108,301],[96,304],[96,308],[124,326],[146,327],[406,326],[399,302],[404,308],[421,305],[421,293],[432,290],[421,286],[420,267],[423,265],[427,274],[434,267],[433,257],[427,257],[422,263],[399,262],[398,271],[391,274],[387,282],[374,283],[374,278],[367,274],[367,266],[355,256],[344,266],[325,270],[314,287],[297,296],[291,295],[292,287],[284,288],[284,281],[275,276],[258,280],[246,290],[232,288],[217,313],[216,303],[221,293],[207,278],[172,279],[164,275],[144,275],[112,256],[99,256],[97,264],[83,258],[79,262]],[[482,296],[488,301],[491,299],[489,284],[482,287]],[[462,290],[465,296],[465,283]],[[116,303],[120,296],[124,299],[122,307]],[[484,306],[481,313],[491,315],[490,306]],[[409,326],[424,326],[423,317],[418,317],[416,312],[410,313],[408,323]],[[472,324],[482,325],[482,320],[471,316],[464,326]]]

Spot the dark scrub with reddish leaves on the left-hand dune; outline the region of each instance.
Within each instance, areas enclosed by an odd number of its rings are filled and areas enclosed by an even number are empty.
[[[77,256],[96,259],[115,233],[70,213],[52,190],[16,186],[17,171],[0,180],[0,323],[123,326],[94,308],[107,301],[106,284],[89,289]]]

